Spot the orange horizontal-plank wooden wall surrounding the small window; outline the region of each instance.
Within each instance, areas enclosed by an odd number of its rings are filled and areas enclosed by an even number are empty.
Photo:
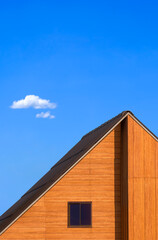
[[[121,239],[120,129],[117,126],[0,239]],[[68,228],[69,201],[92,201],[92,228]]]

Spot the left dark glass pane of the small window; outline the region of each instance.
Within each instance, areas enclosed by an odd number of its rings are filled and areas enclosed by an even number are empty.
[[[80,225],[80,204],[70,204],[70,226]]]

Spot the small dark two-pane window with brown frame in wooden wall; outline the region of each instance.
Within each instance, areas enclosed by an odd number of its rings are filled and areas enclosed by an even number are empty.
[[[91,202],[69,202],[68,203],[68,226],[69,227],[91,227],[92,213]]]

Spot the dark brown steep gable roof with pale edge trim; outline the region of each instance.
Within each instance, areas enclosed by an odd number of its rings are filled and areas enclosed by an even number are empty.
[[[107,136],[124,118],[130,115],[156,141],[158,138],[146,128],[130,111],[124,111],[95,128],[62,157],[33,187],[31,187],[11,208],[0,216],[0,235],[12,225],[24,212],[38,201],[68,171],[70,171],[91,149]]]

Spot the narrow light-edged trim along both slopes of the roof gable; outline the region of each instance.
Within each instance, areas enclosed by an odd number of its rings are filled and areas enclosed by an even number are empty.
[[[119,123],[121,123],[127,116],[131,116],[146,132],[148,132],[157,142],[158,138],[154,135],[131,111],[122,112],[122,118],[114,124],[111,129],[104,134],[86,153],[84,153],[64,174],[62,174],[51,186],[49,186],[39,197],[36,198],[22,213],[20,213],[5,229],[0,232],[2,235],[14,222],[16,222],[28,209],[30,209],[41,197],[43,197],[57,182],[60,181],[72,168],[74,168],[96,145],[98,145]],[[94,129],[95,130],[95,129]],[[93,130],[92,130],[93,131]],[[86,136],[86,135],[85,135]],[[84,137],[84,136],[83,136]]]

